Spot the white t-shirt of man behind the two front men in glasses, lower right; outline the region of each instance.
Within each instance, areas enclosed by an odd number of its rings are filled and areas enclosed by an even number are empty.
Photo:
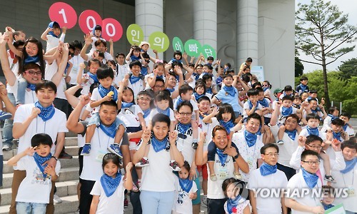
[[[273,133],[273,136],[276,139],[276,142],[278,142],[278,131],[279,127],[278,125],[276,126],[271,126],[270,128],[271,133]],[[288,167],[290,166],[290,159],[293,154],[293,152],[296,151],[296,148],[298,148],[298,133],[296,132],[295,140],[293,141],[287,133],[284,133],[283,135],[283,145],[277,145],[279,148],[279,158],[278,158],[278,163],[281,165],[285,165]]]

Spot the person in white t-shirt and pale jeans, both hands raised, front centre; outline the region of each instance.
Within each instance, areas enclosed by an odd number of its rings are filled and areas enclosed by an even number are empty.
[[[145,213],[171,213],[176,187],[175,175],[167,164],[170,161],[169,150],[172,150],[174,160],[180,167],[183,165],[183,156],[175,145],[177,133],[169,132],[170,118],[159,113],[151,124],[152,132],[147,129],[144,131],[133,158],[133,163],[138,163],[144,157],[146,146],[150,146],[150,165],[143,168],[141,178],[141,207]]]

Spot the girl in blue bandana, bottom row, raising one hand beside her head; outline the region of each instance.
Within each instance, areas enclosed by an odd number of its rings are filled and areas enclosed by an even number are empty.
[[[131,178],[131,168],[133,163],[126,165],[126,179],[119,170],[119,158],[115,154],[108,153],[103,157],[103,171],[99,180],[94,183],[91,195],[90,213],[124,213],[124,191],[133,188],[133,179]]]

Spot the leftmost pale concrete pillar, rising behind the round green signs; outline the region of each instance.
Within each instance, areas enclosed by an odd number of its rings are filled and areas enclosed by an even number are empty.
[[[144,41],[149,41],[149,36],[155,31],[164,32],[164,3],[163,0],[136,0],[135,22],[144,31]],[[151,56],[155,56],[149,51]],[[162,53],[159,54],[162,58]]]

